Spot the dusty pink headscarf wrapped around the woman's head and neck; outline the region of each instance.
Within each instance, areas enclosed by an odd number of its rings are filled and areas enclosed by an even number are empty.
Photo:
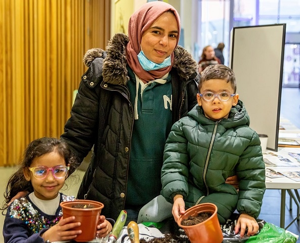
[[[148,83],[151,80],[161,78],[169,72],[174,63],[174,53],[171,54],[172,64],[168,67],[160,68],[157,70],[145,71],[138,59],[138,54],[141,51],[141,40],[143,32],[149,29],[152,23],[164,12],[172,10],[177,19],[178,32],[180,33],[180,17],[176,9],[164,2],[149,2],[144,4],[137,10],[131,17],[128,23],[128,37],[129,42],[126,46],[126,57],[128,65],[133,71],[143,80]],[[177,36],[177,44],[179,42],[179,34]]]

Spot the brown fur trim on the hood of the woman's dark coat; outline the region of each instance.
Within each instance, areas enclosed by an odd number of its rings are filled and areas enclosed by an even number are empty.
[[[103,81],[113,85],[126,85],[129,78],[127,76],[125,52],[128,42],[127,35],[117,33],[109,41],[106,52],[100,48],[90,49],[85,53],[83,63],[89,67],[95,58],[105,57],[102,71]],[[181,79],[188,80],[195,76],[198,64],[192,55],[180,46],[174,50],[174,54],[173,68],[177,70]]]

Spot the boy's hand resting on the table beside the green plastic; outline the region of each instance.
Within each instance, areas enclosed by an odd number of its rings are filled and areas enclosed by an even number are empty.
[[[247,214],[241,214],[237,220],[236,226],[234,227],[234,232],[237,234],[239,229],[241,229],[240,236],[242,238],[244,237],[246,228],[248,228],[247,235],[250,236],[256,234],[260,227],[253,217]]]

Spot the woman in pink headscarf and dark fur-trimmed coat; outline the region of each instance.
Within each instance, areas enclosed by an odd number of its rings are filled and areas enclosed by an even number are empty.
[[[85,54],[89,69],[61,139],[81,160],[94,145],[78,198],[101,201],[106,217],[116,220],[124,209],[126,222],[136,221],[159,195],[170,128],[197,104],[197,63],[178,46],[179,35],[177,11],[150,2],[131,16],[128,36]]]

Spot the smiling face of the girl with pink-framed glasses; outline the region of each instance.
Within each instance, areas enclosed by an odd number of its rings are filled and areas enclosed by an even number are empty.
[[[50,152],[33,159],[30,168],[38,166],[53,168],[56,166],[66,166],[66,163],[64,158],[57,152]],[[52,172],[52,170],[49,170],[45,178],[37,179],[33,176],[32,171],[28,168],[24,169],[24,176],[27,181],[31,181],[34,194],[37,198],[42,200],[54,199],[63,187],[67,175],[63,178],[56,178]]]

